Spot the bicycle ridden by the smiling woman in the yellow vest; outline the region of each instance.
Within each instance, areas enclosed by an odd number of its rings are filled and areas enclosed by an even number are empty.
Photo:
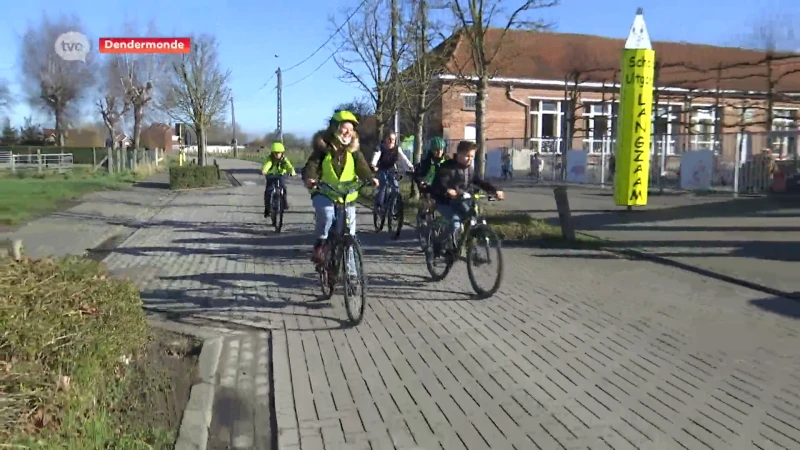
[[[339,183],[339,186],[331,186],[324,181],[317,181],[317,184],[344,199],[342,202],[334,203],[333,224],[324,244],[324,260],[316,267],[322,296],[325,300],[329,300],[333,297],[336,284],[341,282],[347,317],[353,325],[358,325],[364,318],[367,304],[367,279],[364,275],[364,253],[361,250],[361,243],[350,234],[347,207],[351,203],[346,199],[348,195],[360,191],[369,182],[348,181]],[[349,257],[353,258],[355,275],[347,273]]]

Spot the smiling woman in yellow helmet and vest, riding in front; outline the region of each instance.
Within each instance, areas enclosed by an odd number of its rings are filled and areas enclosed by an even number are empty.
[[[315,263],[322,262],[322,246],[328,238],[328,232],[333,225],[334,201],[340,200],[337,195],[317,188],[317,180],[330,185],[354,181],[356,178],[372,180],[375,187],[379,182],[372,175],[369,164],[359,149],[358,134],[355,127],[358,125],[356,116],[350,111],[337,111],[330,120],[327,130],[314,135],[313,152],[309,156],[303,169],[306,187],[311,190],[311,203],[316,212],[314,227],[314,253],[311,260]],[[352,194],[349,202],[358,198],[358,193]],[[356,208],[348,206],[347,216],[350,220],[350,234],[356,234]]]

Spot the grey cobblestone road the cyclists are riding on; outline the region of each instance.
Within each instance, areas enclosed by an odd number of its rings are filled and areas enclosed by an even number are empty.
[[[289,185],[280,235],[261,190],[181,195],[106,261],[174,320],[272,330],[280,449],[800,449],[797,303],[524,248],[505,250],[503,287],[475,301],[463,264],[429,283],[410,233],[363,232],[371,297],[349,328],[340,296],[317,300],[302,187]],[[266,335],[249,336],[220,361],[237,405],[215,408],[235,415],[234,448],[261,449]]]

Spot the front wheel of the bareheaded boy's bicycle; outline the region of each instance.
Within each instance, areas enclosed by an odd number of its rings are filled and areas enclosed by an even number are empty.
[[[500,238],[488,225],[475,225],[466,236],[467,243],[467,275],[472,289],[478,298],[489,298],[500,289],[503,282],[503,251]],[[486,266],[496,265],[492,270]],[[488,283],[478,281],[478,275],[490,273]]]

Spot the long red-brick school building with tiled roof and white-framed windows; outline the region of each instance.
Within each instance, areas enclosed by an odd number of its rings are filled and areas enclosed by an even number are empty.
[[[497,48],[501,33],[488,31],[487,52]],[[428,114],[428,135],[475,139],[476,95],[464,85],[474,79],[469,45],[455,34],[434,50],[446,64],[434,85],[443,93]],[[623,46],[623,39],[509,31],[491,68],[495,75],[487,96],[489,148],[493,141],[513,139],[505,145],[542,153],[564,147],[590,154],[610,152]],[[772,130],[797,130],[800,104],[792,94],[800,93],[800,57],[768,58],[761,51],[688,43],[654,42],[653,47],[659,66],[654,147],[668,155],[713,149],[728,156],[735,152],[741,131],[765,131],[768,122]],[[574,131],[571,142],[565,143],[567,124]],[[776,142],[785,144],[786,139]],[[777,150],[786,152],[787,146]]]

